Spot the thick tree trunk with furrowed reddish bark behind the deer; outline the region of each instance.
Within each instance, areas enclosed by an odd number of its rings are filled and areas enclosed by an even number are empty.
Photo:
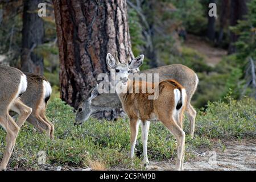
[[[106,54],[131,51],[126,1],[53,0],[60,53],[61,99],[77,108],[99,73],[109,72]]]

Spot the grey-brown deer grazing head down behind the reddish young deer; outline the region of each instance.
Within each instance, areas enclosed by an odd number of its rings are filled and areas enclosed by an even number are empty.
[[[118,57],[115,56],[115,59],[118,60]],[[133,69],[133,72],[137,72],[136,69]],[[192,71],[192,69],[182,64],[172,64],[164,67],[147,69],[146,71],[139,73],[158,73],[159,81],[169,79],[176,80],[185,88],[187,93],[187,106],[185,107],[185,113],[188,115],[190,121],[190,135],[193,138],[195,132],[196,110],[193,108],[190,102],[199,83],[196,73]],[[89,118],[90,114],[97,113],[98,111],[118,109],[122,107],[117,94],[102,93],[98,94],[97,96],[96,92],[92,94],[92,90],[90,90],[85,99],[80,102],[78,111],[76,113],[75,124],[77,125],[85,122]]]

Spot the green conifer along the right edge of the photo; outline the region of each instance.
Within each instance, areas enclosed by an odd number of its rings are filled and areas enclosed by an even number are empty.
[[[232,27],[234,34],[238,36],[234,44],[237,49],[237,66],[243,70],[244,86],[238,92],[238,96],[251,96],[256,98],[256,0],[247,4],[248,13],[245,19],[239,20]]]

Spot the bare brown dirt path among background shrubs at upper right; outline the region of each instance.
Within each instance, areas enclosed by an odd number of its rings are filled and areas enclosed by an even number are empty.
[[[205,61],[208,65],[214,66],[218,64],[222,57],[228,54],[225,49],[214,47],[204,38],[195,35],[188,35],[185,41],[185,46],[195,49],[205,56]]]

